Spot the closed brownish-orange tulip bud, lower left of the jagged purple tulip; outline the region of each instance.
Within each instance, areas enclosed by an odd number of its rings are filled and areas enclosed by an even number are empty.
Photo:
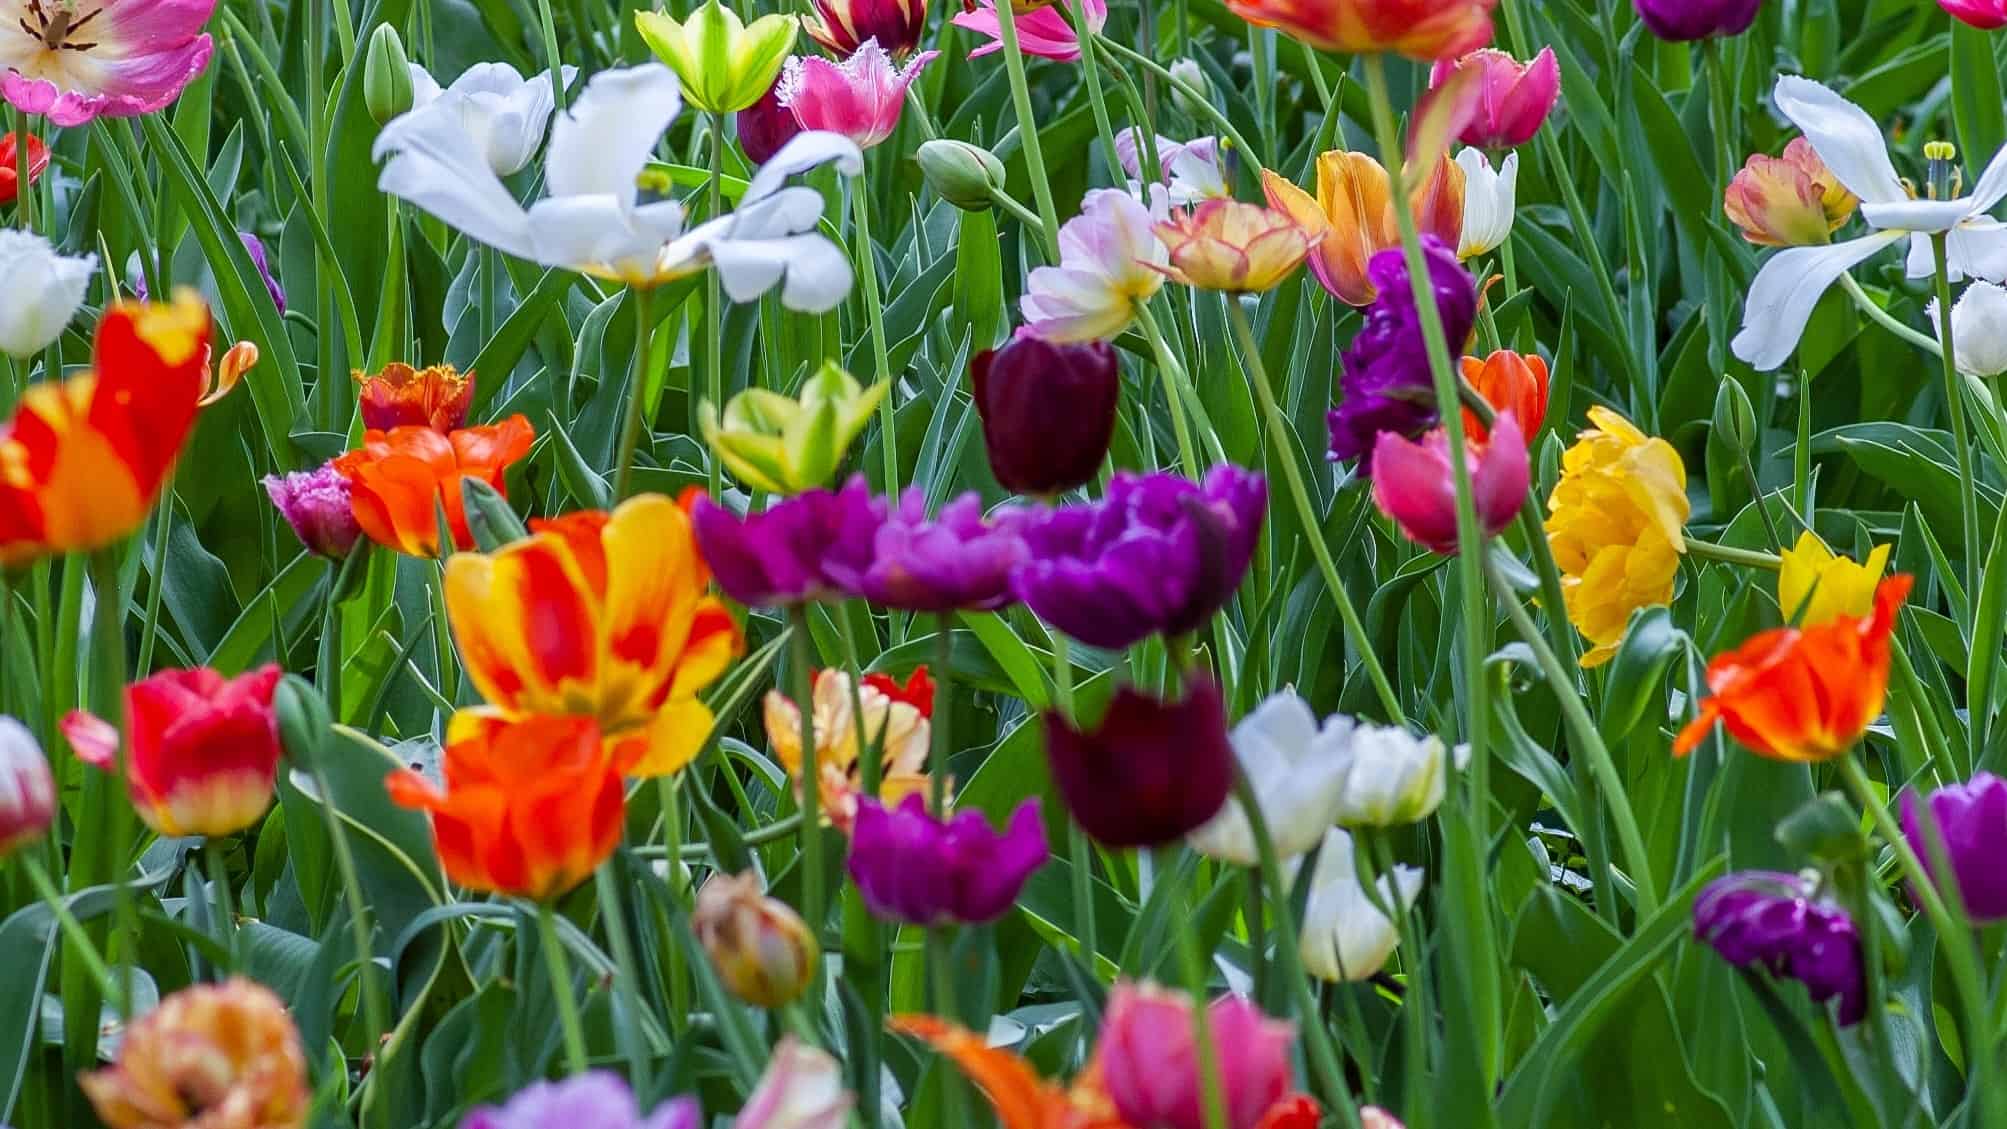
[[[801,997],[821,957],[801,914],[769,898],[751,870],[704,882],[690,924],[727,991],[755,1007],[783,1007]]]

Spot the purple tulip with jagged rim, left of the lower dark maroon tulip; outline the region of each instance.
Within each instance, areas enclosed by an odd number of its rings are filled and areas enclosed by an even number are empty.
[[[1012,812],[1001,832],[977,810],[937,820],[927,798],[897,808],[857,804],[851,828],[851,878],[865,906],[905,924],[981,924],[1004,916],[1026,880],[1046,864],[1046,822],[1038,800]]]

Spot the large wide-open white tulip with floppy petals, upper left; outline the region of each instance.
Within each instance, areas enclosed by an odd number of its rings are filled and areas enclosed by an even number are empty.
[[[785,186],[797,172],[835,164],[855,176],[863,152],[833,132],[801,132],[763,164],[739,211],[694,229],[676,201],[640,201],[638,178],[654,142],[682,108],[676,74],[658,64],[602,70],[550,128],[544,184],[528,209],[488,166],[442,102],[411,110],[377,136],[391,154],[377,186],[448,225],[544,267],[564,267],[630,287],[658,287],[716,269],[725,293],[749,303],[781,287],[781,305],[825,313],[851,291],[843,251],[815,231],[823,195]]]

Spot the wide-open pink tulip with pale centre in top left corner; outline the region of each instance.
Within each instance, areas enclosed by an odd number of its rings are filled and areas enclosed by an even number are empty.
[[[209,68],[215,0],[12,4],[0,24],[0,96],[50,124],[84,126],[165,108]]]

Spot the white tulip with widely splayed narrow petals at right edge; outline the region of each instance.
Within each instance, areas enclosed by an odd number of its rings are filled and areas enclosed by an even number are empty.
[[[1750,285],[1742,333],[1732,343],[1736,357],[1764,371],[1780,367],[1804,337],[1820,295],[1840,275],[1903,239],[1911,241],[1911,279],[1937,273],[1931,241],[1939,235],[1945,237],[1953,281],[2007,275],[2007,225],[1987,215],[2007,197],[2007,148],[1993,154],[1971,195],[1919,201],[1897,176],[1883,130],[1867,110],[1792,74],[1776,80],[1774,100],[1804,130],[1840,184],[1860,197],[1860,219],[1875,231],[1846,243],[1788,247],[1772,255]]]

